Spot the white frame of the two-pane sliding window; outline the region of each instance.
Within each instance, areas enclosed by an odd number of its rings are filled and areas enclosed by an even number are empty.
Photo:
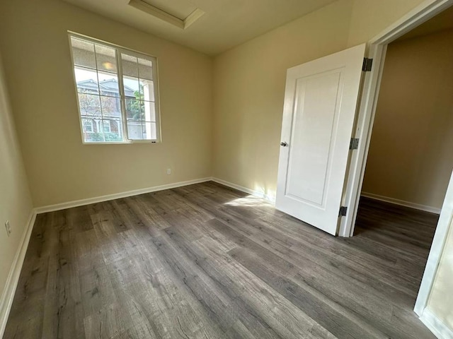
[[[74,55],[73,55],[73,51],[72,51],[71,37],[75,37],[77,39],[86,40],[87,42],[92,42],[93,44],[100,44],[105,47],[110,47],[110,48],[115,49],[115,59],[116,59],[116,66],[117,66],[117,77],[118,77],[118,86],[119,86],[119,90],[120,90],[120,103],[121,103],[121,118],[122,118],[121,136],[123,138],[123,141],[85,141],[84,126],[82,124],[82,119],[84,119],[84,118],[81,117],[81,112],[80,112],[79,93],[77,91],[76,73],[74,71],[74,68],[76,67],[76,65],[74,64]],[[74,89],[76,92],[77,111],[79,112],[79,124],[80,124],[82,143],[84,145],[161,143],[161,109],[160,109],[160,105],[159,105],[159,76],[158,76],[157,57],[154,57],[150,54],[146,54],[143,52],[137,52],[132,49],[128,49],[128,48],[119,46],[117,44],[104,42],[103,40],[98,40],[93,37],[87,37],[86,35],[81,35],[79,33],[71,32],[71,31],[68,31],[68,40],[69,40],[69,52],[71,54],[72,73],[74,76]],[[156,112],[156,139],[137,140],[137,139],[130,139],[127,136],[127,114],[126,114],[125,91],[124,91],[124,86],[123,86],[124,80],[123,80],[123,74],[122,74],[122,63],[120,61],[121,52],[123,52],[127,55],[130,55],[132,57],[148,59],[152,62],[152,76],[153,76],[153,85],[154,85],[154,109]],[[97,69],[97,66],[96,66],[96,69]],[[118,128],[120,128],[120,126],[118,126]],[[90,133],[90,132],[87,132],[87,133]]]

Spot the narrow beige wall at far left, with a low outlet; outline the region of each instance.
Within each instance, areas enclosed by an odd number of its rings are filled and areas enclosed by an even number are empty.
[[[0,56],[0,301],[32,208]],[[11,225],[9,237],[4,226],[6,220]]]

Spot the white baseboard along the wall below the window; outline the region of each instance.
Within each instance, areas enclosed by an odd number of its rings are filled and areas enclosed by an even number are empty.
[[[182,187],[182,186],[187,186],[187,185],[192,185],[192,184],[199,184],[200,182],[209,182],[211,179],[212,178],[207,177],[207,178],[202,178],[202,179],[188,180],[186,182],[175,182],[173,184],[148,187],[147,189],[135,189],[133,191],[108,194],[106,196],[96,196],[94,198],[69,201],[67,203],[57,203],[55,205],[50,205],[50,206],[42,206],[42,207],[35,208],[35,210],[36,210],[37,214],[53,212],[55,210],[64,210],[66,208],[73,208],[73,207],[78,207],[78,206],[89,205],[90,203],[101,203],[103,201],[109,201],[109,200],[114,200],[114,199],[119,199],[119,198],[126,198],[127,196],[137,196],[139,194],[163,191],[164,189],[175,189],[176,187]]]

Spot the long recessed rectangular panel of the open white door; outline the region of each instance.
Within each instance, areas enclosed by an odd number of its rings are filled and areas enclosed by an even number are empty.
[[[338,71],[321,73],[300,78],[296,85],[286,194],[316,206],[323,206],[327,189],[329,150],[334,140],[331,131],[342,90],[340,76]],[[318,97],[320,88],[325,89],[322,98]]]

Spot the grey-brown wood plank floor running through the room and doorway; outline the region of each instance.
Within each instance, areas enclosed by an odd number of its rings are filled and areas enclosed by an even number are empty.
[[[41,214],[4,338],[435,338],[436,222],[363,199],[336,238],[212,182]]]

